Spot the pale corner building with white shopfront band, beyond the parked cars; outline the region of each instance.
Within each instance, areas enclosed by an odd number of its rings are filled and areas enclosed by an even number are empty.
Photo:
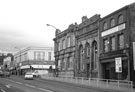
[[[14,66],[19,73],[33,70],[55,69],[54,49],[51,47],[28,47],[14,55]]]

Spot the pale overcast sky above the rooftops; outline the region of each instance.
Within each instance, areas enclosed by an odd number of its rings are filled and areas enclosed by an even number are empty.
[[[0,0],[0,51],[54,47],[55,29],[61,31],[82,16],[104,17],[134,0]]]

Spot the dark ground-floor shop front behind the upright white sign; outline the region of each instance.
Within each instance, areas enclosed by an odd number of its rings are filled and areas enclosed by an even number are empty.
[[[102,77],[105,79],[127,80],[128,78],[128,59],[121,58],[121,67],[116,64],[116,58],[102,60]]]

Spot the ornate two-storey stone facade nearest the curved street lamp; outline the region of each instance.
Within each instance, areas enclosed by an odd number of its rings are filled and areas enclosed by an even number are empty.
[[[74,76],[75,27],[76,24],[69,25],[66,30],[56,32],[54,38],[55,62],[59,76]]]

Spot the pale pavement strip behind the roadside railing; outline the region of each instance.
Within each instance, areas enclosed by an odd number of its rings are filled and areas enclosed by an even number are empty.
[[[130,86],[118,86],[111,82],[106,83],[98,82],[95,80],[76,80],[75,78],[50,77],[46,75],[41,76],[41,79],[70,83],[72,85],[77,85],[90,89],[97,89],[103,92],[135,92],[135,89],[131,88]]]

